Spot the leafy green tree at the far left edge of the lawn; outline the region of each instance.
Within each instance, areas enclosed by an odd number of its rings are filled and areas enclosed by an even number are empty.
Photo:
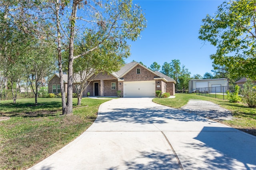
[[[0,11],[0,96],[6,81],[10,83],[13,103],[16,103],[18,83],[24,73],[22,55],[28,46],[28,34],[20,32],[8,18],[8,6]]]

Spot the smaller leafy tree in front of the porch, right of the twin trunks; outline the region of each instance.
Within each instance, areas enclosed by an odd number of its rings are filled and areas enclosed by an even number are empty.
[[[80,53],[83,49],[92,48],[98,41],[93,34],[87,34],[74,50]],[[82,93],[99,73],[118,71],[124,64],[124,58],[130,55],[129,45],[106,40],[104,45],[74,61],[74,82],[76,82],[77,105],[81,105]],[[92,76],[93,75],[93,76]],[[88,81],[88,77],[90,81]]]

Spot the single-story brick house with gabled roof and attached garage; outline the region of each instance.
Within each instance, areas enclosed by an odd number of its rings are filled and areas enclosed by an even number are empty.
[[[91,81],[92,77],[95,75],[90,75],[87,82]],[[68,76],[64,75],[63,78],[64,89],[67,91]],[[49,93],[60,93],[59,74],[54,73],[47,83]],[[117,91],[120,91],[122,97],[156,97],[157,90],[175,95],[175,84],[174,79],[152,71],[140,63],[131,62],[117,72],[96,75],[83,92],[83,96],[86,96],[87,92],[90,92],[90,96],[117,96]],[[74,83],[73,87],[75,86]],[[73,88],[73,93],[76,93],[76,88]]]

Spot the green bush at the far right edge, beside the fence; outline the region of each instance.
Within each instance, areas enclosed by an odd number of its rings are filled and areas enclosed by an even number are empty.
[[[246,103],[248,107],[256,107],[256,85],[248,79],[243,87],[241,92],[242,101]]]

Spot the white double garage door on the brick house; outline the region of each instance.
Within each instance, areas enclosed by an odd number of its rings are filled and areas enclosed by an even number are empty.
[[[155,81],[124,82],[124,97],[155,97]]]

